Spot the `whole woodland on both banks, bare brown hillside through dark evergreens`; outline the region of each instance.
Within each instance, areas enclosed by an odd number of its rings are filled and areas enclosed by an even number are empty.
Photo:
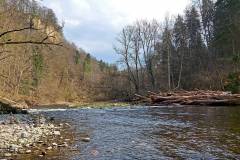
[[[240,92],[240,1],[194,0],[183,15],[116,35],[116,64],[66,40],[35,0],[0,1],[0,95],[39,103],[130,100],[147,91]]]

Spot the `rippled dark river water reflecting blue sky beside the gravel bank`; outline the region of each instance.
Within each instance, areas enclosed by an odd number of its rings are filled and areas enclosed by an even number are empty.
[[[77,152],[47,159],[240,159],[240,107],[42,110],[72,125]],[[81,141],[90,137],[90,142]]]

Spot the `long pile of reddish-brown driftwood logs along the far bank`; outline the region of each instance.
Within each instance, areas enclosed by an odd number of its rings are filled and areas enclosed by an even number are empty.
[[[206,105],[231,106],[240,105],[240,94],[223,91],[174,91],[168,93],[148,92],[148,96],[135,95],[137,102],[150,105]]]

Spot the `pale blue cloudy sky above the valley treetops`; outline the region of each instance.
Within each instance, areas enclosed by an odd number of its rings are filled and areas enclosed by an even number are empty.
[[[137,20],[182,14],[190,0],[39,0],[65,23],[64,35],[98,60],[116,62],[113,45],[121,29]]]

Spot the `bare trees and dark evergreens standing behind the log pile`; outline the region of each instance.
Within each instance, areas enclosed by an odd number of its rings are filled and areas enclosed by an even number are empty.
[[[194,0],[183,15],[138,20],[122,29],[115,51],[128,93],[240,91],[240,1]]]

